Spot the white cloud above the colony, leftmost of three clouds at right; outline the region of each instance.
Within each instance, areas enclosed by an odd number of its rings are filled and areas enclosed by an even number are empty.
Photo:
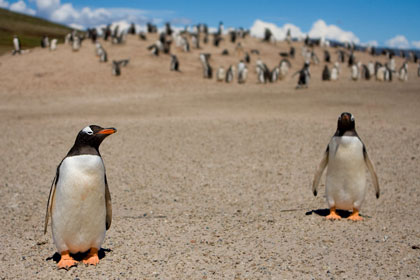
[[[254,24],[250,28],[251,36],[257,38],[263,38],[265,29],[268,28],[273,33],[273,36],[276,40],[284,40],[286,38],[287,30],[290,29],[292,37],[302,38],[304,33],[300,30],[299,27],[291,23],[286,23],[282,27],[275,25],[274,23],[264,22],[257,19],[254,21]]]

